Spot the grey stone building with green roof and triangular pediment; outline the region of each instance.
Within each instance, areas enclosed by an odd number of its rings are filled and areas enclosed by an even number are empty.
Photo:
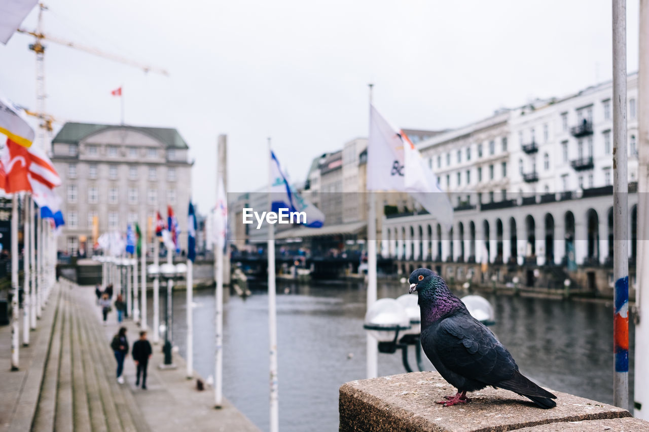
[[[99,234],[126,233],[127,225],[167,217],[171,206],[187,249],[191,195],[188,145],[173,128],[66,123],[52,140],[52,162],[60,174],[66,224],[57,248],[92,254],[93,218]],[[147,226],[151,228],[151,226]],[[152,246],[151,241],[147,242]]]

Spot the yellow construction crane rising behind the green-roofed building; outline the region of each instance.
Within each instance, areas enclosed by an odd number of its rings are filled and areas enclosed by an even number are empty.
[[[29,45],[29,49],[31,49],[31,51],[34,51],[34,53],[36,54],[36,111],[28,112],[28,114],[42,119],[42,123],[40,124],[40,129],[38,131],[37,139],[38,142],[41,143],[41,145],[43,146],[43,149],[45,149],[45,132],[48,133],[52,132],[52,121],[53,121],[53,117],[51,115],[45,114],[45,97],[46,97],[45,63],[44,63],[45,45],[43,45],[43,40],[57,43],[58,45],[64,45],[66,47],[79,49],[80,51],[85,51],[86,53],[107,58],[108,60],[113,60],[114,62],[119,62],[122,64],[127,64],[129,66],[138,67],[139,69],[142,69],[145,72],[154,72],[154,73],[160,73],[167,77],[169,76],[169,73],[167,73],[167,71],[165,71],[164,69],[160,69],[159,67],[153,67],[147,64],[141,64],[140,62],[136,62],[135,60],[130,60],[129,58],[124,58],[116,54],[104,53],[103,51],[93,47],[80,45],[79,43],[69,42],[61,38],[56,38],[55,36],[49,36],[43,34],[43,11],[47,10],[47,6],[43,5],[43,3],[39,3],[38,7],[39,7],[38,24],[36,25],[36,30],[31,32],[25,29],[18,29],[18,32],[23,34],[29,34],[31,36],[34,36],[34,38],[36,38],[34,43],[31,43]]]

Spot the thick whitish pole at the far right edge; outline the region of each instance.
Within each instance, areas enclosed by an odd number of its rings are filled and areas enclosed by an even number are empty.
[[[633,416],[649,420],[649,0],[640,0],[638,62],[638,258]]]

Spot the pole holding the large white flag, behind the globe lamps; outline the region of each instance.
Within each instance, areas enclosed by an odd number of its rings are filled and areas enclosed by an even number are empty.
[[[369,84],[369,106],[372,107],[372,89]],[[367,214],[367,310],[376,302],[376,197],[367,192],[369,208]],[[378,376],[378,345],[376,339],[367,335],[367,378]]]

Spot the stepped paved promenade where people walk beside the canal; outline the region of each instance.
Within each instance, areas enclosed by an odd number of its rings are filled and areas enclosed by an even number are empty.
[[[175,370],[158,370],[163,355],[153,346],[147,390],[135,387],[135,365],[125,361],[125,383],[116,381],[110,339],[119,326],[116,314],[101,325],[94,289],[62,280],[21,348],[21,369],[9,371],[10,332],[0,329],[0,432],[4,431],[258,431],[225,401],[214,409],[214,393],[195,390],[185,377],[184,361],[174,356]],[[136,324],[128,328],[136,341]],[[5,346],[6,345],[6,346]]]

